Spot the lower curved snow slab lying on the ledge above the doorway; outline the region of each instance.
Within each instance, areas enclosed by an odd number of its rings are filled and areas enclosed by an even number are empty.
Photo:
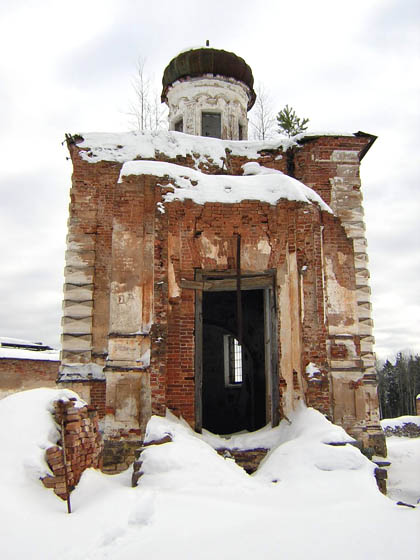
[[[332,213],[315,191],[281,171],[262,167],[256,162],[243,167],[245,176],[208,175],[173,163],[129,161],[124,163],[118,181],[122,182],[122,178],[129,175],[170,177],[174,181],[174,190],[164,195],[165,202],[190,199],[197,204],[233,204],[242,200],[260,200],[276,204],[285,199],[315,203],[322,210]]]

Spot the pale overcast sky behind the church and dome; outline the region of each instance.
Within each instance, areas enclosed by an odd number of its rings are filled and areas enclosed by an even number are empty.
[[[362,162],[376,352],[420,353],[419,0],[2,0],[0,334],[59,344],[66,132],[129,128],[139,57],[230,50],[276,112],[378,136]]]

